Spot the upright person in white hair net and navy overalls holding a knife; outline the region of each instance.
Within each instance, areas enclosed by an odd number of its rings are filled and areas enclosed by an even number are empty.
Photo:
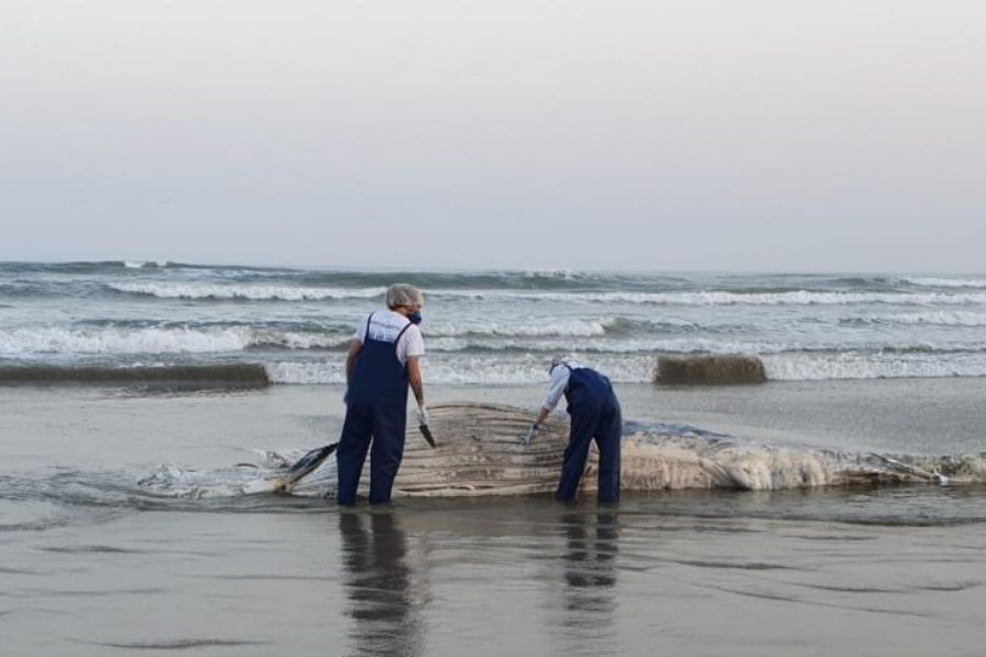
[[[387,309],[363,320],[346,357],[346,419],[339,439],[341,505],[356,503],[359,474],[370,450],[370,504],[387,504],[401,459],[408,423],[408,385],[417,418],[428,424],[419,359],[424,339],[417,324],[424,297],[416,287],[387,288]],[[372,447],[370,442],[372,441]]]

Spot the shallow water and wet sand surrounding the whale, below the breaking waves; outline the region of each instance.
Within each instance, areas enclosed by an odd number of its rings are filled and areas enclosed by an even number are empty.
[[[962,411],[978,383],[618,392],[640,426],[951,453],[978,445],[977,412]],[[541,392],[428,389],[432,403],[530,407]],[[837,412],[850,400],[855,417]],[[626,494],[618,508],[399,499],[386,512],[137,486],[163,463],[208,471],[334,440],[341,417],[334,387],[0,389],[0,653],[982,654],[976,486]]]

